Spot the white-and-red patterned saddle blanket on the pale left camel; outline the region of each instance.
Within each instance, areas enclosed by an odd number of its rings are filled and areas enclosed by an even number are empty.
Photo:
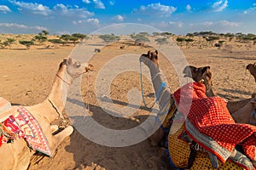
[[[33,150],[38,150],[47,156],[52,156],[49,142],[42,128],[29,111],[20,105],[12,107],[8,112],[8,115],[11,116],[2,122],[0,126],[0,145],[9,143],[10,140],[15,138],[23,138],[26,139],[28,146]]]

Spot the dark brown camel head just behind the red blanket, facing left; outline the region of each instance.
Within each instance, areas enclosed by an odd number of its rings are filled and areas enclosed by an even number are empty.
[[[210,66],[195,67],[188,65],[183,70],[183,77],[192,78],[195,82],[202,82],[207,88],[207,97],[215,96],[212,91],[212,72]]]

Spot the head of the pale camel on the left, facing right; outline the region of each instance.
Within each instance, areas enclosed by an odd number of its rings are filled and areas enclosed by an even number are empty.
[[[89,71],[93,71],[93,65],[86,62],[79,62],[75,59],[68,58],[63,59],[61,67],[67,67],[67,73],[73,78],[78,78],[81,74]]]

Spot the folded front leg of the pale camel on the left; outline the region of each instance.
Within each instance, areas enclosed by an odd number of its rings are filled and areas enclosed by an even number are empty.
[[[64,130],[62,130],[60,133],[57,133],[53,136],[53,145],[52,150],[55,151],[57,149],[57,146],[61,144],[63,139],[65,139],[67,136],[70,136],[73,133],[73,127],[68,126]]]

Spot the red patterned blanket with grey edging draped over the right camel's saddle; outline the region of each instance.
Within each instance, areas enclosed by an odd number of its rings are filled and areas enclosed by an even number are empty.
[[[178,111],[187,116],[185,128],[190,138],[225,162],[236,144],[241,144],[245,155],[256,161],[256,127],[236,123],[224,99],[207,98],[206,88],[193,82],[179,88],[173,97]]]

